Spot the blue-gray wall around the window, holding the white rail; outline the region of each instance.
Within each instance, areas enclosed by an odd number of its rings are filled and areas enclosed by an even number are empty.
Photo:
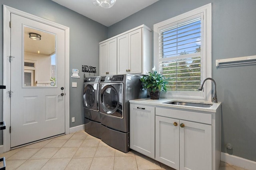
[[[222,152],[256,161],[256,65],[216,68],[216,59],[256,55],[255,0],[160,0],[108,27],[108,38],[212,2],[212,78],[222,102]]]

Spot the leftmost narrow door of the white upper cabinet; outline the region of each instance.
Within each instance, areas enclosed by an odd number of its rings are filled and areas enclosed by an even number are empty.
[[[108,72],[108,42],[100,44],[100,76]]]

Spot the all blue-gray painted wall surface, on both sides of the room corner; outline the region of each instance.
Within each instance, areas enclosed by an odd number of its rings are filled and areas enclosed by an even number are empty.
[[[2,40],[3,4],[70,27],[69,74],[71,76],[72,68],[81,70],[82,65],[96,66],[98,70],[100,41],[142,24],[153,29],[155,23],[210,2],[212,2],[212,78],[217,83],[218,101],[222,102],[222,152],[227,152],[225,145],[231,143],[234,149],[229,153],[256,161],[256,66],[251,64],[217,69],[214,64],[216,59],[256,55],[255,0],[160,0],[108,28],[50,0],[1,0],[0,37]],[[0,41],[1,54],[2,49],[3,41]],[[2,84],[2,69],[1,57],[0,84]],[[80,76],[83,76],[81,71]],[[72,88],[72,82],[77,82],[78,87]],[[84,123],[82,97],[80,97],[82,84],[82,78],[70,78],[70,120],[71,117],[76,118],[75,123],[70,121],[70,127]],[[0,96],[2,100],[2,92]],[[0,102],[0,115],[2,116],[2,102]]]

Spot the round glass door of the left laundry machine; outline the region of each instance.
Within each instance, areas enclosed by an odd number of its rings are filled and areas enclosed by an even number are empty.
[[[84,86],[84,108],[98,111],[98,90],[97,87],[95,89],[94,86],[92,86],[91,84]]]

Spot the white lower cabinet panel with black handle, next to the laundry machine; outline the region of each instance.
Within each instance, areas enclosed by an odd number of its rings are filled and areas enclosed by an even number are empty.
[[[155,107],[130,104],[130,148],[155,156]]]

